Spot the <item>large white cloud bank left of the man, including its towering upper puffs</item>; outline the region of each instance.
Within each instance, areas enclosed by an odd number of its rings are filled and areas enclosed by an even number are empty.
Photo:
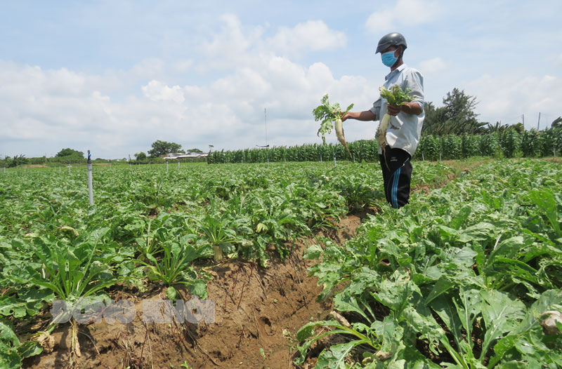
[[[271,145],[320,142],[311,112],[322,95],[362,110],[378,97],[378,86],[362,77],[336,79],[323,62],[295,62],[291,41],[308,53],[343,47],[346,37],[308,21],[266,38],[261,27],[225,15],[198,58],[146,58],[98,74],[0,60],[0,146],[8,149],[0,154],[54,155],[72,147],[122,158],[146,152],[155,140],[200,149],[254,147],[265,140],[264,108]],[[374,128],[350,123],[346,135],[372,137]]]

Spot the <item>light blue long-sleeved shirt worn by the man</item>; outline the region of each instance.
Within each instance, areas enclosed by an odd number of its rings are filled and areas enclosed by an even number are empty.
[[[421,135],[421,126],[424,125],[426,102],[424,100],[424,76],[417,69],[410,68],[403,64],[388,73],[384,82],[384,87],[398,85],[402,90],[410,88],[410,94],[415,96],[412,102],[417,102],[421,107],[421,114],[407,114],[399,112],[397,116],[391,116],[391,122],[386,128],[386,143],[393,149],[403,149],[411,156],[414,156],[417,145],[419,144],[419,136]],[[379,98],[373,102],[370,111],[374,114],[374,120],[380,121],[381,116],[386,114],[386,99]],[[381,154],[379,147],[379,154]]]

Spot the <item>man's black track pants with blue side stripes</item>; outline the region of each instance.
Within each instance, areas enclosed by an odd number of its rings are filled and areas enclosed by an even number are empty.
[[[412,163],[410,159],[412,157],[403,149],[391,149],[387,146],[386,160],[383,155],[379,155],[379,158],[386,201],[393,208],[401,208],[410,199],[410,180],[412,179]]]

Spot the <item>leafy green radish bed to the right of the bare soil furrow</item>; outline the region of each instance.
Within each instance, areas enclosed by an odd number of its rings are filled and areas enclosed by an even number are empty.
[[[344,246],[309,248],[320,298],[342,286],[351,324],[301,328],[298,362],[341,334],[316,368],[561,367],[562,324],[542,327],[562,311],[561,182],[558,163],[494,161],[371,217]]]

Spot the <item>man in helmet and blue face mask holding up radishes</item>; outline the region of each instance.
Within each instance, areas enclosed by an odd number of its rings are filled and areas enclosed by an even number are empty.
[[[386,99],[379,98],[373,107],[364,112],[348,112],[341,117],[356,119],[358,121],[380,121],[381,116],[388,113],[391,121],[386,129],[385,154],[379,146],[384,180],[384,194],[386,201],[393,208],[400,208],[408,203],[410,198],[410,180],[412,177],[412,163],[410,162],[419,143],[421,126],[424,123],[424,76],[416,69],[407,67],[402,57],[407,48],[406,40],[402,34],[393,32],[383,36],[377,45],[375,53],[381,53],[381,60],[391,72],[384,79],[384,87],[398,85],[414,96],[412,102],[404,105],[388,105]]]

